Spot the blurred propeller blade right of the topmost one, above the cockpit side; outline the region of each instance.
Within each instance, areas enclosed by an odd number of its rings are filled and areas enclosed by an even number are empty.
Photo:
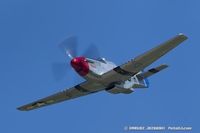
[[[97,59],[100,57],[99,50],[97,46],[93,43],[87,48],[87,50],[83,54],[87,58]]]

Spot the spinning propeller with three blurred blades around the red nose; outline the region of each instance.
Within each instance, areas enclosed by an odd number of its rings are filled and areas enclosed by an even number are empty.
[[[84,51],[82,55],[78,56],[78,39],[76,36],[71,36],[62,41],[59,45],[59,49],[63,52],[64,55],[67,55],[71,60],[71,66],[81,75],[84,76],[87,72],[87,64],[83,64],[85,70],[79,72],[80,66],[78,62],[84,61],[86,58],[96,59],[99,58],[99,50],[94,44],[90,44],[89,47]],[[56,62],[52,64],[52,71],[54,78],[59,81],[63,79],[69,70],[70,66],[67,62]]]

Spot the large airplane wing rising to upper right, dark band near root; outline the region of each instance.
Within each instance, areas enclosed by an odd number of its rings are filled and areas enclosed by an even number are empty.
[[[110,83],[121,82],[130,79],[133,75],[143,70],[154,61],[165,55],[167,52],[178,46],[187,37],[183,34],[179,34],[172,39],[158,45],[157,47],[143,53],[142,55],[128,61],[127,63],[114,68],[113,70],[103,74],[101,76],[101,82],[104,85]]]

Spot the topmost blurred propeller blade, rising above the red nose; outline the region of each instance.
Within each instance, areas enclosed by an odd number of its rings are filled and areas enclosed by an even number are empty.
[[[64,54],[67,54],[67,56],[72,59],[77,56],[77,42],[78,39],[76,36],[71,36],[62,41],[59,44],[59,48],[61,49]]]

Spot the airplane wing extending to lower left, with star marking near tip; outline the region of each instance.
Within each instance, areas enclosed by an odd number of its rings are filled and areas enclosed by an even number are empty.
[[[33,109],[40,108],[43,106],[62,102],[65,100],[70,100],[70,99],[77,98],[80,96],[85,96],[85,95],[88,95],[91,93],[95,93],[102,89],[104,89],[104,88],[100,84],[85,81],[85,82],[83,82],[79,85],[76,85],[70,89],[66,89],[62,92],[58,92],[58,93],[48,96],[46,98],[42,98],[35,102],[26,104],[17,109],[19,109],[21,111],[29,111],[29,110],[33,110]]]

